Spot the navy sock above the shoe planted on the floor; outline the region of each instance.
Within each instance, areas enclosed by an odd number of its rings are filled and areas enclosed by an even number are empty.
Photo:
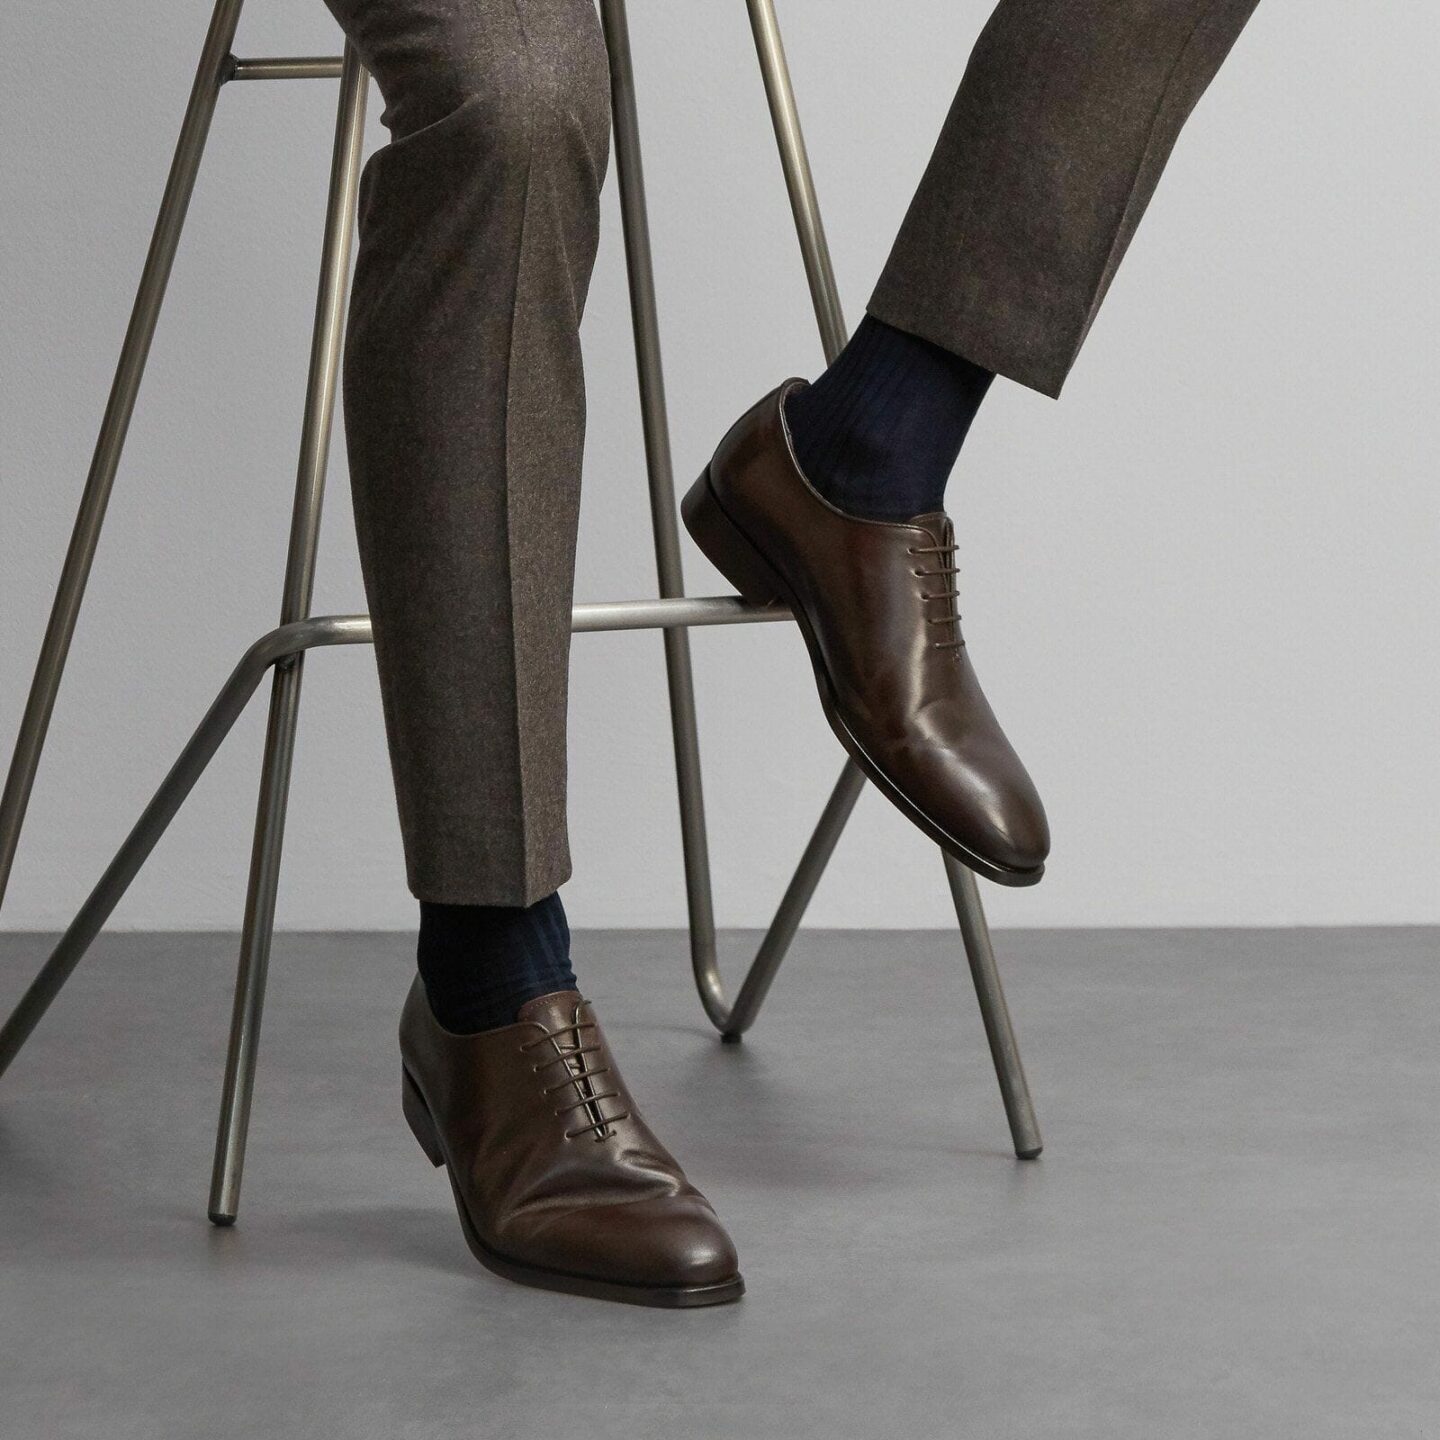
[[[527,999],[576,988],[559,894],[531,906],[422,900],[416,960],[435,1018],[459,1035],[513,1025]]]

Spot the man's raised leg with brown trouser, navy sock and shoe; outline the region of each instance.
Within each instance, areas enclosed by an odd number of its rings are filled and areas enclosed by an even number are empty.
[[[1048,829],[955,612],[945,482],[995,373],[1058,395],[1179,128],[1257,0],[1002,0],[868,314],[744,415],[685,501],[811,639],[827,717],[927,835],[1032,884]]]

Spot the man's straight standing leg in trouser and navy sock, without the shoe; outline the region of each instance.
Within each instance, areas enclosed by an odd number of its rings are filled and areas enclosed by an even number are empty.
[[[583,0],[334,0],[393,140],[366,166],[346,350],[360,557],[436,1017],[569,989],[564,710],[609,150]]]

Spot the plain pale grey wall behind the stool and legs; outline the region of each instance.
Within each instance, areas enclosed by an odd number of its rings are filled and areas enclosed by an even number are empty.
[[[632,4],[680,480],[811,372],[749,29]],[[851,318],[988,6],[786,0]],[[0,740],[24,687],[204,30],[204,0],[17,6],[0,46]],[[251,0],[239,53],[338,49]],[[996,386],[952,487],[963,609],[1045,793],[1043,886],[1004,924],[1440,920],[1440,22],[1266,0],[1175,153],[1057,405]],[[373,140],[380,131],[372,104]],[[331,82],[220,99],[4,924],[63,923],[242,648],[275,622]],[[586,320],[579,596],[652,586],[613,177]],[[318,611],[363,609],[343,445]],[[697,592],[720,589],[690,550]],[[763,923],[840,768],[785,626],[698,632],[721,923]],[[576,924],[677,924],[655,635],[580,636]],[[117,914],[238,924],[256,703]],[[367,651],[305,680],[279,919],[408,926]],[[867,795],[811,919],[950,919],[933,850]]]

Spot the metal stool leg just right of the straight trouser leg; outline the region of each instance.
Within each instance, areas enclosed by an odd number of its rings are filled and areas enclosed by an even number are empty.
[[[615,171],[621,222],[625,230],[625,269],[629,281],[631,321],[635,331],[635,367],[639,376],[641,423],[645,436],[645,471],[649,480],[649,516],[655,541],[660,593],[685,593],[680,560],[680,524],[675,517],[675,478],[670,454],[670,420],[665,409],[665,376],[660,360],[660,325],[655,312],[655,271],[649,251],[645,210],[645,173],[641,163],[639,118],[635,111],[635,73],[631,65],[625,0],[600,0],[600,22],[611,62],[611,114],[615,127]],[[675,750],[675,786],[680,796],[680,842],[685,865],[685,901],[690,917],[690,962],[711,1018],[724,1014],[719,989],[714,900],[710,887],[710,842],[700,775],[700,739],[696,727],[696,685],[690,660],[690,634],[675,626],[664,631],[665,678],[670,685],[670,729]],[[710,995],[719,996],[719,1012]],[[717,1020],[719,1024],[719,1020]]]

